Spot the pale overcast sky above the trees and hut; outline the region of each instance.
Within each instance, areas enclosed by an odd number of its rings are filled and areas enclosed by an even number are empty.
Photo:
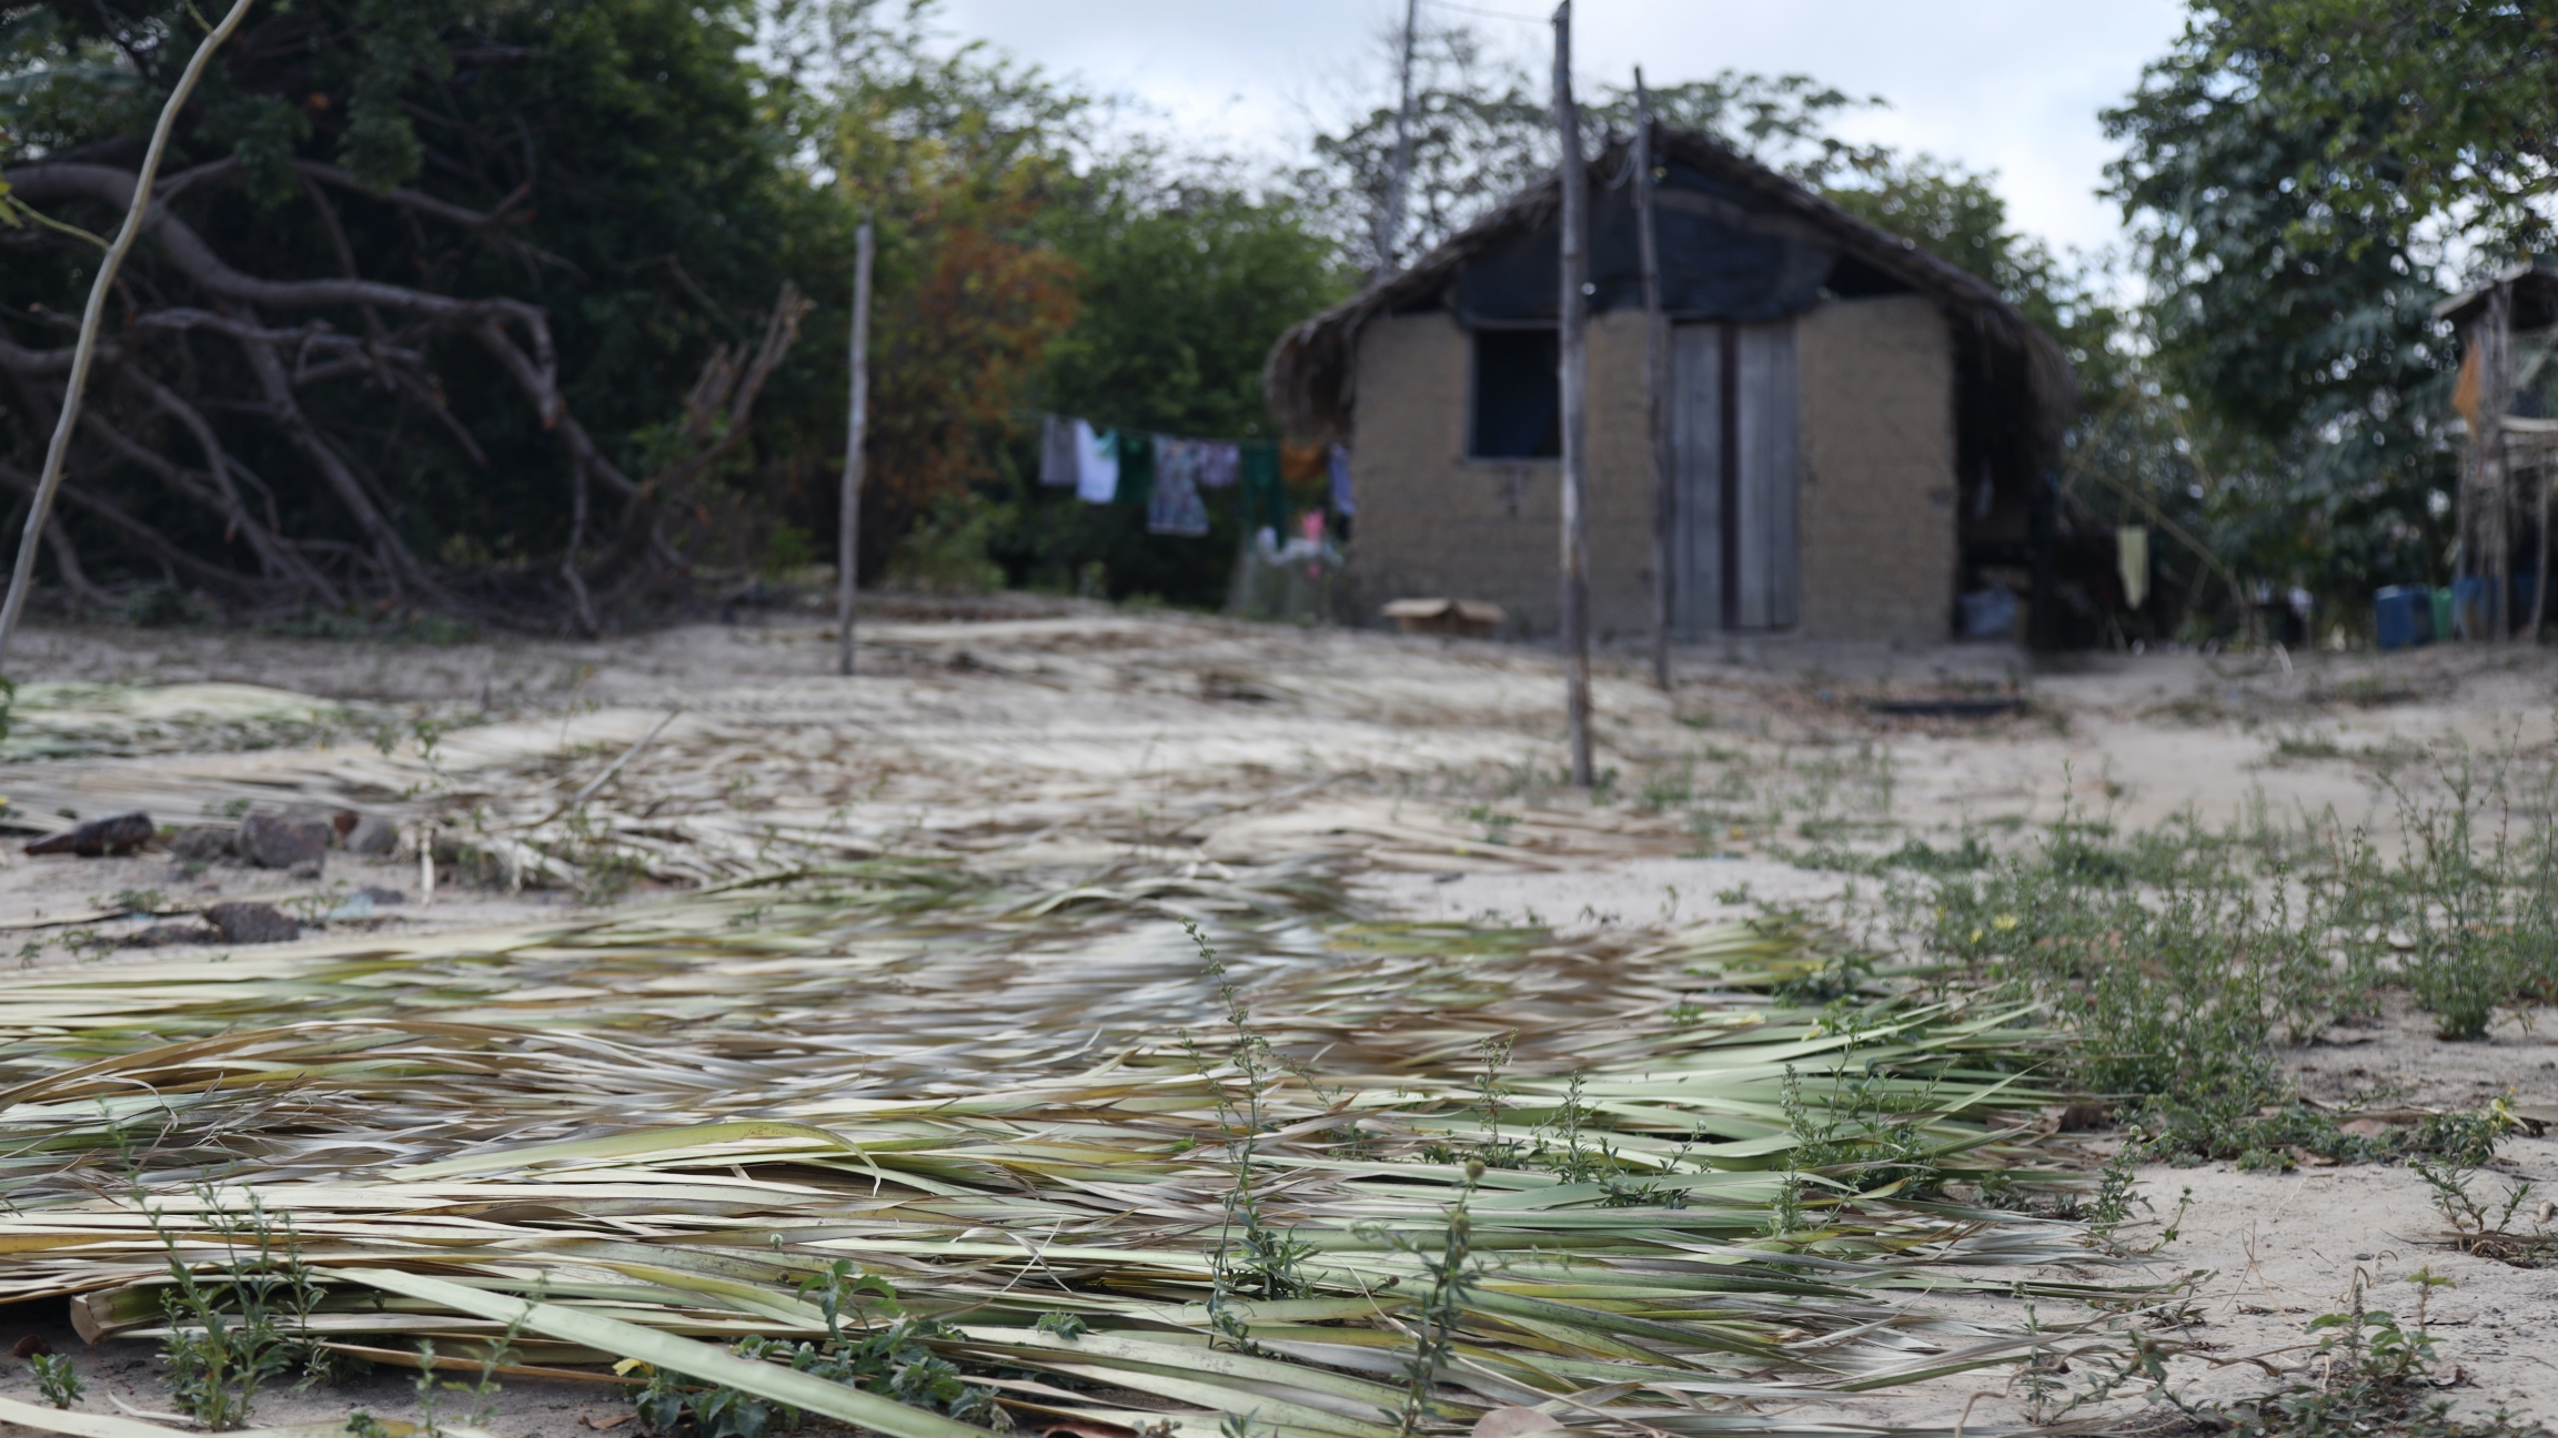
[[[1489,18],[1484,10],[1540,23]],[[1545,0],[1425,0],[1486,41],[1545,46]],[[2182,0],[1578,0],[1576,69],[1670,84],[1719,69],[1811,74],[1890,110],[1839,128],[2000,174],[2018,228],[2098,248],[2113,146],[2098,110],[2174,41]],[[952,36],[985,38],[1126,95],[1202,148],[1279,159],[1376,77],[1402,0],[946,0]]]

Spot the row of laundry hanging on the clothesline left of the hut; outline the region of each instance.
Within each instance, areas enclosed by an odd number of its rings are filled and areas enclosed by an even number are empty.
[[[1330,509],[1348,517],[1351,453],[1330,445],[1322,466]],[[1039,484],[1074,489],[1085,504],[1143,504],[1146,532],[1200,537],[1207,532],[1210,489],[1238,489],[1246,532],[1287,527],[1287,489],[1276,440],[1195,440],[1151,430],[1105,430],[1090,420],[1041,415]]]

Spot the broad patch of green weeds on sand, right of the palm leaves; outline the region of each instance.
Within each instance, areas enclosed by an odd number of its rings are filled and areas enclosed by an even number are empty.
[[[2064,1077],[2115,1100],[2159,1159],[2282,1169],[2476,1151],[2494,1136],[2461,1116],[2346,1134],[2295,1103],[2279,1062],[2284,1044],[2369,1023],[2389,985],[2458,1036],[2550,983],[2558,842],[2486,824],[2491,796],[2540,814],[2509,775],[2443,773],[2443,798],[2410,803],[2412,842],[2387,862],[2358,829],[2287,826],[2259,806],[2223,829],[2185,816],[2138,834],[2062,814],[2016,852],[1911,842],[1860,867],[1885,873],[1893,926],[1918,934],[1942,990],[2059,1016],[2077,1036]]]

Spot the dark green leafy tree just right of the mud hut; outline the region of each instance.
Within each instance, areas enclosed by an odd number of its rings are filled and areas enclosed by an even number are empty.
[[[2410,171],[2356,141],[2392,105],[2300,102],[2300,56],[2197,8],[2105,123],[2126,143],[2113,184],[2151,287],[2149,363],[2218,553],[2361,612],[2376,583],[2443,578],[2453,356],[2392,200]],[[2346,189],[2366,202],[2325,200]]]

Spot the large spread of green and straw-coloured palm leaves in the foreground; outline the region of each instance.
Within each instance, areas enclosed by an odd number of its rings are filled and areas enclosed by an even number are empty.
[[[23,975],[0,1302],[281,1313],[307,1361],[432,1338],[706,1435],[1770,1430],[2049,1348],[1924,1292],[2087,1256],[1947,1195],[2036,1167],[2049,1036],[1770,998],[1824,972],[1785,926],[1565,944],[1361,921],[1315,873],[875,862]]]

